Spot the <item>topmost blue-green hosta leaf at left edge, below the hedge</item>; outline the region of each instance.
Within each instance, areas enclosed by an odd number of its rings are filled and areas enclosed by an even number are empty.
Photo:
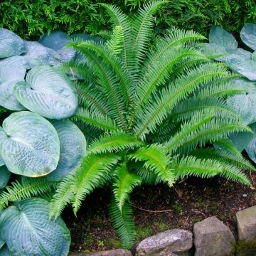
[[[25,51],[25,44],[16,33],[0,28],[0,58],[20,55]]]

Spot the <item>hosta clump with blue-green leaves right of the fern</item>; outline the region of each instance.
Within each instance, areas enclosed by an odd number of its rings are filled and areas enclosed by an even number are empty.
[[[206,53],[215,60],[223,61],[228,67],[242,75],[234,81],[244,92],[228,97],[228,105],[239,112],[246,124],[256,131],[256,24],[245,23],[240,37],[247,50],[238,48],[234,36],[218,26],[213,26],[209,34],[209,44]],[[238,149],[246,150],[250,159],[256,163],[255,135],[248,132],[231,134],[230,139],[237,144]]]

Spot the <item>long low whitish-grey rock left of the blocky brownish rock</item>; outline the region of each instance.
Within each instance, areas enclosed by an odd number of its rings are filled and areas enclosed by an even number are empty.
[[[193,245],[192,237],[188,230],[166,230],[140,242],[136,256],[187,256]]]

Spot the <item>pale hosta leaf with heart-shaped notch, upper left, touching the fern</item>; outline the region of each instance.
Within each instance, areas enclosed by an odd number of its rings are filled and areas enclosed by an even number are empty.
[[[16,83],[14,95],[28,110],[50,119],[71,117],[78,107],[72,82],[58,69],[46,65],[28,71],[26,82]]]

